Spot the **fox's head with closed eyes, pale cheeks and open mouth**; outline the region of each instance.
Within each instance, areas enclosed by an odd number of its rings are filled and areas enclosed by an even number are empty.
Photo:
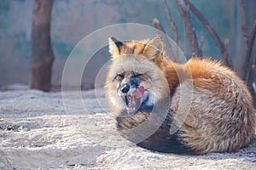
[[[168,82],[160,70],[163,41],[160,36],[143,41],[109,40],[112,63],[105,85],[113,110],[128,114],[150,110],[169,94]]]

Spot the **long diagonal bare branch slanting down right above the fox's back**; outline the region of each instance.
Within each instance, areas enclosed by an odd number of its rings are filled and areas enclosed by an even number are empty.
[[[195,14],[195,16],[198,18],[198,20],[201,21],[202,25],[207,28],[207,31],[212,36],[213,41],[215,42],[215,44],[217,45],[220,53],[223,56],[224,64],[229,66],[230,68],[233,68],[232,62],[230,60],[230,56],[229,56],[229,53],[228,53],[228,48],[225,47],[224,42],[222,42],[220,37],[218,37],[217,32],[212,28],[212,26],[204,18],[204,16],[199,12],[199,10],[197,8],[195,8],[195,6],[192,3],[189,2],[189,0],[185,0],[185,2],[189,4],[189,7],[190,7],[189,9],[191,10],[191,12],[193,14]]]

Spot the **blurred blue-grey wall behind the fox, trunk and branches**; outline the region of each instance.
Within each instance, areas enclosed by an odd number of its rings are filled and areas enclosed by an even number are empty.
[[[228,51],[233,61],[234,70],[240,74],[241,56],[246,46],[241,31],[241,14],[238,0],[229,1],[190,1],[212,25],[218,36],[229,40]],[[10,85],[29,86],[30,63],[32,58],[32,8],[33,0],[1,0],[0,1],[0,89],[8,89]],[[191,56],[189,42],[184,31],[183,20],[177,10],[175,1],[167,1],[172,20],[177,25],[178,45],[183,53]],[[256,16],[256,1],[244,1],[247,14],[248,31]],[[201,22],[191,15],[196,35],[203,39],[203,55],[213,59],[222,59],[217,46]],[[170,37],[172,28],[167,20],[163,1],[160,0],[55,0],[53,1],[50,38],[55,55],[51,77],[52,89],[61,88],[61,74],[68,55],[76,44],[91,32],[104,26],[119,23],[139,23],[153,26],[154,18]],[[146,38],[146,37],[145,37]],[[106,39],[106,43],[108,39]],[[255,44],[255,43],[254,43]],[[254,45],[255,46],[255,45]],[[255,55],[256,48],[253,48]],[[96,64],[109,59],[108,48],[99,55],[105,60],[97,59]],[[92,68],[93,69],[93,68]],[[88,70],[88,69],[87,69]],[[94,88],[95,71],[87,71],[92,76],[84,79],[82,88]]]

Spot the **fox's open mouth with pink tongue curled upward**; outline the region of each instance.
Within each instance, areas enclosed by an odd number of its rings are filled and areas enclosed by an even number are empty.
[[[141,99],[144,95],[144,88],[143,86],[136,89],[135,92],[131,94],[127,94],[125,96],[125,102],[126,102],[126,111],[129,114],[133,114],[137,111],[137,108],[141,105]]]

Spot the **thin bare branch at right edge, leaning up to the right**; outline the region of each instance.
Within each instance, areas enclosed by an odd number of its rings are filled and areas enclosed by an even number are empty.
[[[254,39],[256,37],[256,20],[254,20],[253,23],[253,27],[252,27],[252,31],[248,40],[248,47],[247,47],[247,55],[245,60],[248,61],[247,62],[247,72],[246,72],[246,82],[249,81],[249,77],[250,77],[250,71],[255,63],[255,57],[252,55],[253,52],[253,43],[254,43]]]

